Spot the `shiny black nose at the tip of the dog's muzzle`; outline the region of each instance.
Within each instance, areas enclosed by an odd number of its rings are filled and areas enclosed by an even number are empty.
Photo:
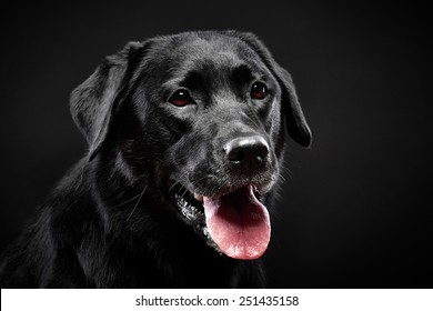
[[[266,163],[269,146],[260,136],[241,137],[229,141],[224,152],[231,165],[256,170]]]

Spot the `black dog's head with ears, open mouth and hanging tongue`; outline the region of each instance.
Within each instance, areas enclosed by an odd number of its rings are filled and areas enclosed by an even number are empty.
[[[291,76],[256,37],[235,31],[129,43],[73,91],[71,111],[90,161],[105,147],[129,183],[145,177],[179,218],[236,259],[268,247],[263,202],[279,177],[283,124],[311,143]]]

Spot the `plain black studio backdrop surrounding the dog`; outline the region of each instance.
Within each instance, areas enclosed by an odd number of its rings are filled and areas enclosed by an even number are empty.
[[[0,248],[85,153],[68,98],[102,57],[157,34],[238,29],[292,73],[314,134],[309,150],[289,146],[269,285],[432,288],[430,9],[349,2],[3,7]]]

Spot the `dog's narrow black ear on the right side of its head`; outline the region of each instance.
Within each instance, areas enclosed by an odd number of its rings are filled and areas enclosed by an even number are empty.
[[[310,147],[311,131],[306,124],[290,73],[275,62],[268,48],[253,33],[236,31],[229,31],[229,33],[250,46],[274,74],[282,89],[282,110],[285,116],[288,132],[299,144]]]

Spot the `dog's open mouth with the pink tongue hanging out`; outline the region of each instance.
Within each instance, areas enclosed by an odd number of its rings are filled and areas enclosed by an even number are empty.
[[[270,218],[254,185],[248,184],[220,197],[204,197],[173,183],[170,193],[184,220],[228,257],[256,259],[266,250]]]

